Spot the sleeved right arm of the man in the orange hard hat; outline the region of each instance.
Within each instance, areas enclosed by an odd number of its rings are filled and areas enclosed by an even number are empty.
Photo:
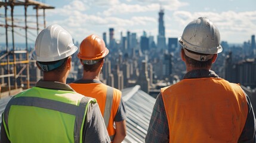
[[[126,121],[127,111],[125,109],[124,101],[121,98],[118,111],[115,116],[116,134],[113,143],[122,142],[127,135]]]

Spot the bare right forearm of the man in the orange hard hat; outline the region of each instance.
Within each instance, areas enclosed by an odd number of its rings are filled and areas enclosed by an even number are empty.
[[[116,123],[116,135],[113,140],[113,143],[122,142],[127,135],[126,122],[125,120]]]

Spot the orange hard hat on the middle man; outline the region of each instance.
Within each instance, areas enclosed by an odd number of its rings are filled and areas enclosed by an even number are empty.
[[[82,60],[97,60],[109,54],[105,42],[97,35],[90,35],[80,44],[78,58]]]

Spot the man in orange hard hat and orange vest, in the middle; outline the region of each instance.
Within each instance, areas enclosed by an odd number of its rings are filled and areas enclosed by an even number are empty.
[[[84,66],[82,79],[70,83],[78,93],[95,98],[112,142],[122,142],[126,136],[126,111],[122,92],[100,82],[104,57],[109,54],[103,39],[90,35],[80,44],[78,58]],[[114,125],[115,124],[115,125]]]

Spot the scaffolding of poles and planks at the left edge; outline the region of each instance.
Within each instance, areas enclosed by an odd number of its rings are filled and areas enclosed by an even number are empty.
[[[18,16],[24,17],[24,26],[20,26],[19,24],[14,24],[14,7],[24,7],[24,15],[23,14],[18,14]],[[31,39],[27,36],[27,33],[29,32],[28,29],[36,30],[36,33],[38,35],[39,33],[39,25],[46,27],[46,21],[45,21],[45,10],[47,9],[54,9],[54,7],[45,4],[44,2],[39,2],[39,1],[33,1],[33,0],[24,0],[24,1],[16,1],[16,0],[5,0],[5,2],[0,2],[0,8],[4,7],[5,8],[5,14],[2,15],[0,18],[5,19],[5,24],[0,23],[0,27],[5,28],[5,48],[6,50],[2,50],[0,55],[0,67],[5,66],[5,69],[7,71],[4,71],[0,74],[0,79],[1,81],[4,81],[4,78],[7,78],[7,83],[1,83],[1,86],[6,86],[8,95],[11,95],[11,90],[12,89],[17,89],[17,78],[18,77],[26,77],[26,86],[23,86],[24,89],[30,88],[30,74],[29,74],[29,62],[30,60],[30,52],[28,49],[28,40],[31,41]],[[36,11],[35,15],[27,15],[27,8],[28,7],[33,7],[33,10]],[[7,15],[8,10],[11,8],[11,15]],[[39,15],[38,11],[43,10],[43,14]],[[11,18],[10,18],[11,16]],[[17,16],[17,15],[16,15]],[[36,17],[36,27],[31,27],[28,26],[28,21],[27,17],[32,16]],[[39,24],[39,19],[38,17],[43,17],[44,18],[44,24]],[[8,23],[8,21],[11,21],[11,24]],[[19,32],[16,32],[14,28],[18,29],[24,29],[25,30],[25,35],[21,35]],[[10,30],[11,29],[11,30]],[[10,45],[8,45],[8,30],[11,31],[11,43],[12,43],[12,48],[10,49]],[[25,41],[26,41],[26,49],[25,50],[17,50],[15,47],[15,42],[14,42],[14,33],[20,36],[24,36]],[[32,33],[30,33],[32,34]],[[36,36],[36,35],[35,35]],[[34,41],[33,41],[34,42]],[[20,58],[17,57],[19,55]],[[26,57],[26,58],[23,58]],[[33,62],[33,61],[32,61]],[[17,72],[17,64],[23,64],[23,67],[20,69],[20,71]],[[26,69],[26,74],[22,75],[24,70]],[[11,77],[13,78],[13,85],[11,85]],[[12,88],[11,88],[12,87]],[[21,86],[22,87],[22,86]],[[0,89],[1,90],[1,89]],[[1,98],[1,96],[0,96]]]

